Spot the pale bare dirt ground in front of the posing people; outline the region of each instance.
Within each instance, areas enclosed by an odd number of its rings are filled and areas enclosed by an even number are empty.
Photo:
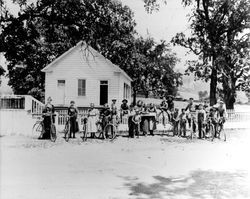
[[[1,137],[0,198],[250,198],[249,130],[228,130],[227,142],[79,136]]]

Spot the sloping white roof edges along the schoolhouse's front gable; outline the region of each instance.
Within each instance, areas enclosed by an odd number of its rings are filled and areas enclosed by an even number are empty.
[[[70,54],[73,50],[75,50],[77,47],[79,46],[86,46],[87,44],[83,41],[78,42],[75,46],[73,46],[72,48],[70,48],[69,50],[67,50],[65,53],[63,53],[62,55],[60,55],[59,57],[57,57],[54,61],[52,61],[49,65],[47,65],[45,68],[43,68],[41,71],[42,72],[47,72],[49,71],[49,69],[56,64],[58,61],[60,61],[61,59],[63,59],[64,57],[66,57],[68,54]],[[128,78],[130,81],[133,81],[128,74],[122,70],[119,66],[113,64],[110,60],[106,59],[101,53],[99,53],[98,51],[96,51],[94,48],[92,48],[91,46],[88,46],[89,50],[91,50],[91,52],[94,52],[94,54],[98,54],[100,56],[100,58],[104,59],[109,65],[113,66],[114,71],[118,72],[118,73],[122,73],[126,78]]]

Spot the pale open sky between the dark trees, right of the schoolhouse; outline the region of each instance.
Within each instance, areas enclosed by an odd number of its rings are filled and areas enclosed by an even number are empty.
[[[190,8],[184,8],[181,0],[168,0],[167,5],[161,4],[159,11],[149,14],[145,11],[142,0],[121,0],[134,12],[137,23],[136,30],[143,37],[153,37],[156,41],[170,42],[176,33],[184,32],[189,35],[188,13]],[[160,2],[160,1],[159,1]],[[173,51],[180,58],[176,69],[183,72],[187,59],[196,59],[194,55],[186,55],[187,50],[180,46],[172,46]]]

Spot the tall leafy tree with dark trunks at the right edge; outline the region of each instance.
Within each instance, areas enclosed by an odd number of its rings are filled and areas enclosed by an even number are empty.
[[[145,0],[145,5],[157,8],[159,2]],[[219,91],[227,108],[232,109],[236,90],[249,88],[249,34],[244,32],[249,32],[250,1],[182,0],[182,3],[193,7],[191,35],[178,33],[173,42],[199,57],[188,62],[187,73],[210,81],[211,105],[216,103]]]

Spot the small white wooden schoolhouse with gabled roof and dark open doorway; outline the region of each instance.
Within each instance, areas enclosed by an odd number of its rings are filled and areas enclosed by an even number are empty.
[[[55,106],[87,107],[131,102],[132,79],[117,65],[81,41],[42,69],[45,72],[45,99]]]

